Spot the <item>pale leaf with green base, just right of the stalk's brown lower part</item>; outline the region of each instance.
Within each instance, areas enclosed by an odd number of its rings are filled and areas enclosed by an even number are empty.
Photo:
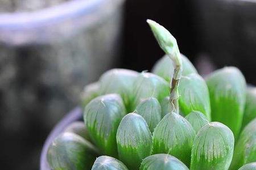
[[[200,111],[210,120],[210,98],[207,84],[198,74],[189,74],[180,79],[179,105],[184,115]]]

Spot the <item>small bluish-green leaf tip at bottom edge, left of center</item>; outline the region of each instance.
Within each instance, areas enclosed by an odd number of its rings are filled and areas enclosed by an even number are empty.
[[[128,168],[118,159],[100,156],[94,162],[92,170],[128,170]]]

